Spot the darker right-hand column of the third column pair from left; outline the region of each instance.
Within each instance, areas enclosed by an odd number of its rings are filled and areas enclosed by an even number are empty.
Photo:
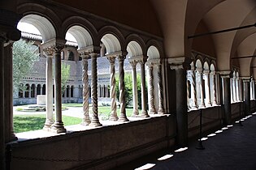
[[[129,121],[126,117],[125,110],[125,91],[124,91],[124,54],[119,55],[119,102],[120,102],[120,115],[119,121]]]

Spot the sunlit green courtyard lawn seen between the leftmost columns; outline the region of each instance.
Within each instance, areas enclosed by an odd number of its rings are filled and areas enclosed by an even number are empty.
[[[41,130],[45,124],[46,115],[17,115],[13,117],[15,133],[27,132],[31,130]],[[76,117],[63,116],[65,125],[80,124],[81,119]]]

